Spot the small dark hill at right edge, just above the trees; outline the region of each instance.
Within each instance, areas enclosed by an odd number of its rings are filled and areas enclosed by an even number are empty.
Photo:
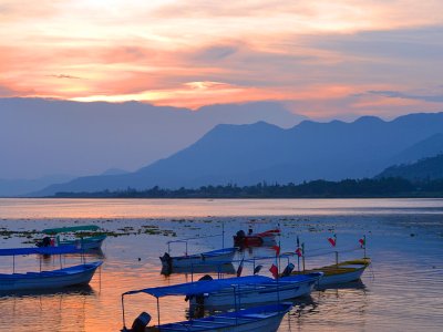
[[[443,154],[410,165],[391,166],[377,176],[377,178],[383,177],[401,177],[411,181],[443,179]]]

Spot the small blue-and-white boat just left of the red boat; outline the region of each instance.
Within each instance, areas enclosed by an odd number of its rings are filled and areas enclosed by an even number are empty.
[[[184,256],[171,256],[165,252],[159,259],[163,267],[174,268],[190,268],[193,266],[200,264],[223,264],[230,263],[234,259],[237,248],[224,248],[196,255],[184,255]]]

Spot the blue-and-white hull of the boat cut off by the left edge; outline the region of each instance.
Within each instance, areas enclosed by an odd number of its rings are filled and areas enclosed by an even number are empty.
[[[59,289],[87,284],[102,262],[43,272],[0,274],[0,292]]]

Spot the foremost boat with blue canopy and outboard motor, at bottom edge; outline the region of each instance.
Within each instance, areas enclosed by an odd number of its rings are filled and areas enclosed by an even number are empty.
[[[223,331],[223,332],[276,332],[281,323],[285,314],[291,310],[292,303],[278,303],[262,307],[256,307],[245,310],[237,310],[217,315],[210,315],[202,319],[181,321],[175,323],[161,324],[159,313],[158,322],[154,326],[147,326],[151,322],[151,315],[142,312],[134,320],[132,328],[125,325],[124,297],[140,292],[148,293],[157,299],[167,295],[195,295],[207,291],[216,291],[224,288],[229,288],[228,283],[222,280],[188,282],[176,286],[150,288],[136,291],[130,291],[122,294],[123,307],[123,329],[124,332],[142,332],[142,331]],[[233,295],[234,297],[234,295]]]

